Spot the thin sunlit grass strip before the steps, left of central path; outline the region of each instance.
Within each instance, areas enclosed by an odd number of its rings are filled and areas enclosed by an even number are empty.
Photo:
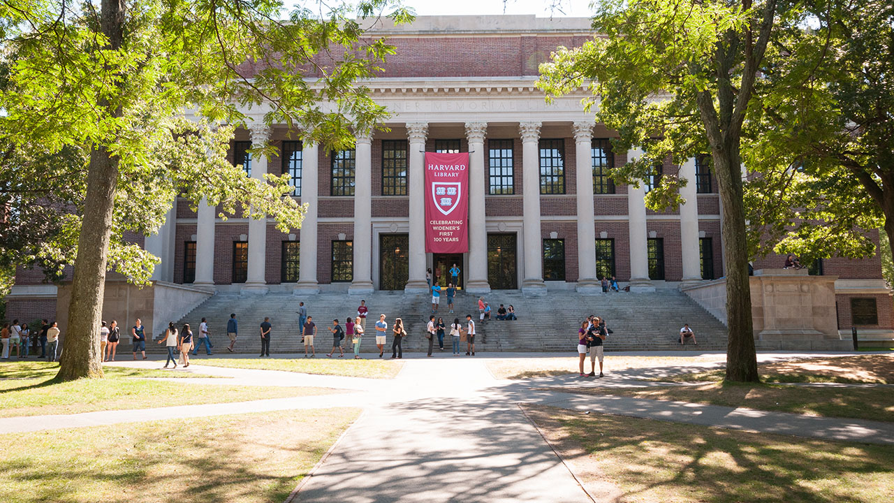
[[[323,358],[320,358],[323,356]],[[261,369],[265,371],[290,371],[305,374],[324,374],[371,379],[393,379],[403,368],[403,362],[390,360],[355,360],[350,355],[344,358],[326,358],[318,354],[316,358],[208,358],[196,365],[230,367],[236,369]]]

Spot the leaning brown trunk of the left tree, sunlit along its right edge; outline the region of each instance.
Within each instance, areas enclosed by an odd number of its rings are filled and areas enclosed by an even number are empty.
[[[123,28],[123,0],[103,0],[102,30],[109,39],[105,48],[114,50],[122,46]],[[100,99],[97,105],[105,116],[122,115],[120,107],[112,107],[105,99]],[[58,379],[103,377],[99,328],[117,183],[118,158],[104,145],[94,145],[90,152],[84,218],[80,225],[78,256],[74,260],[72,302],[68,306],[68,327]]]

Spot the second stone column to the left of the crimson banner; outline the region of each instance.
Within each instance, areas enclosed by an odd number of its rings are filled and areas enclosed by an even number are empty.
[[[349,294],[371,294],[373,252],[372,132],[358,132],[354,164],[354,278]]]

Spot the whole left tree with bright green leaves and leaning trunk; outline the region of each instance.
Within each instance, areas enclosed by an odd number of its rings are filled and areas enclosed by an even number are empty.
[[[385,10],[409,19],[392,0],[358,5],[365,17]],[[351,130],[381,123],[384,108],[356,82],[393,48],[364,38],[347,7],[297,8],[285,20],[283,12],[280,0],[0,5],[9,69],[2,139],[29,158],[66,149],[83,158],[71,178],[83,188],[66,201],[75,221],[63,224],[77,247],[59,378],[102,376],[106,269],[147,280],[157,258],[124,233],[156,232],[176,194],[194,206],[205,197],[230,213],[247,208],[281,229],[300,225],[286,176],[248,178],[225,161],[235,126],[284,123],[338,148],[352,142]]]

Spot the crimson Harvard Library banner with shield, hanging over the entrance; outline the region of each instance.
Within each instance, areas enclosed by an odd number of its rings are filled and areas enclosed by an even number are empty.
[[[426,253],[468,252],[468,152],[426,152]]]

